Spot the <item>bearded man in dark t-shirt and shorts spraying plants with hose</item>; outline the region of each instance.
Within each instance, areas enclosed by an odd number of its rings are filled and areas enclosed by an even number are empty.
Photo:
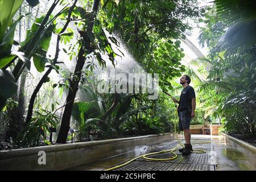
[[[172,98],[174,102],[179,104],[179,129],[183,130],[185,137],[185,148],[181,148],[179,151],[182,152],[183,155],[189,155],[191,154],[191,151],[193,151],[189,126],[191,118],[195,117],[196,94],[192,86],[189,86],[190,82],[190,77],[188,75],[183,75],[180,78],[180,84],[183,86],[183,90],[180,94],[180,101]]]

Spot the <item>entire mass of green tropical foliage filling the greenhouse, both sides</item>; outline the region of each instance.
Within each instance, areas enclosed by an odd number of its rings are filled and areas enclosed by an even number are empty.
[[[0,139],[50,144],[49,127],[56,143],[71,133],[87,141],[177,131],[176,106],[163,92],[157,100],[98,92],[99,72],[117,67],[124,51],[176,98],[176,80],[191,75],[192,123],[218,119],[226,131],[255,133],[255,2],[241,2],[216,0],[212,14],[196,0],[0,0]],[[181,42],[201,23],[209,55],[191,64],[207,80],[181,64]]]

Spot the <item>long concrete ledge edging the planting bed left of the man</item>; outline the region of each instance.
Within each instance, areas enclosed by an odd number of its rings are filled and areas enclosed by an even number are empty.
[[[166,133],[0,151],[0,170],[67,169],[171,139],[174,134]],[[38,164],[39,151],[46,152],[46,165]]]

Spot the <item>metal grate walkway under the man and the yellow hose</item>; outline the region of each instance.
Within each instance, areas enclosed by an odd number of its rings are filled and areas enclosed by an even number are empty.
[[[196,154],[191,153],[188,156],[183,156],[179,151],[175,151],[177,154],[177,158],[174,160],[167,161],[156,161],[156,160],[147,160],[144,158],[140,158],[134,160],[133,162],[127,164],[126,166],[114,169],[114,171],[215,171],[215,165],[209,163],[210,161],[210,153],[213,151],[213,144],[211,143],[201,143],[201,144],[192,144],[193,149],[201,149],[205,150],[204,154]],[[172,146],[165,146],[162,148],[158,148],[158,150],[152,152],[158,152],[162,150],[168,150],[173,148]],[[172,158],[174,155],[171,153],[163,153],[163,154],[155,154],[150,155],[150,158],[155,159],[166,159]],[[128,161],[128,160],[127,160]],[[127,162],[126,161],[126,162]],[[126,163],[122,162],[115,166],[119,166],[120,164]],[[114,166],[112,166],[114,167]]]

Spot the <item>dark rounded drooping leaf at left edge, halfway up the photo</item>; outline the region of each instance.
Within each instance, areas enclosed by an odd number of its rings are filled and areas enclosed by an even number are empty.
[[[11,72],[0,69],[0,87],[0,96],[3,98],[14,96],[18,86],[16,85],[15,78]]]

